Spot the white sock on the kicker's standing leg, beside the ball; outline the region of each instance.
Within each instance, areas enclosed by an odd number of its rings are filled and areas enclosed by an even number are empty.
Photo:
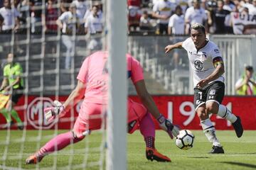
[[[215,135],[215,128],[213,126],[213,123],[210,121],[210,119],[201,120],[201,125],[203,128],[203,132],[206,135],[209,142],[213,143],[213,146],[221,147],[220,142],[218,138]]]

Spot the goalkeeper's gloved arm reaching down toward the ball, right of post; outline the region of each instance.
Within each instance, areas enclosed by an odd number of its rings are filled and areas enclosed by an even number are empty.
[[[159,113],[156,103],[154,103],[153,98],[146,90],[144,80],[137,81],[134,86],[143,105],[147,108],[149,113],[156,118],[156,120],[159,122],[159,126],[169,134],[171,139],[173,139],[173,135],[177,136],[179,129],[171,123],[171,120],[164,118],[164,115]]]

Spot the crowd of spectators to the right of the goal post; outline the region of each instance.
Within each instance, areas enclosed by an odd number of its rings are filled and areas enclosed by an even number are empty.
[[[255,34],[256,0],[128,0],[129,32],[188,34],[193,23],[207,33]]]

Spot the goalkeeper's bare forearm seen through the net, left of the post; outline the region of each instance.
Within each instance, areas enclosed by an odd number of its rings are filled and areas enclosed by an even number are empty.
[[[63,104],[65,111],[69,111],[70,108],[75,106],[75,104],[78,103],[78,101],[80,101],[84,95],[85,95],[85,84],[83,84],[82,81],[78,80],[78,85],[71,92],[70,96],[68,96],[67,100]]]

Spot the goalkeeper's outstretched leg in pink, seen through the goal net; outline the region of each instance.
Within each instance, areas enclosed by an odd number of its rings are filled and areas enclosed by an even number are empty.
[[[90,134],[89,130],[100,129],[102,125],[101,115],[105,113],[105,108],[105,105],[97,103],[87,103],[82,106],[83,110],[80,109],[78,118],[75,120],[73,131],[65,132],[54,137],[52,140],[47,142],[46,145],[41,147],[38,152],[28,157],[26,159],[26,164],[37,164],[41,162],[43,157],[45,157],[47,154],[59,151],[60,149],[63,149],[70,144],[80,142],[85,138],[85,132],[89,132]],[[48,111],[48,109],[46,109],[46,111]]]

